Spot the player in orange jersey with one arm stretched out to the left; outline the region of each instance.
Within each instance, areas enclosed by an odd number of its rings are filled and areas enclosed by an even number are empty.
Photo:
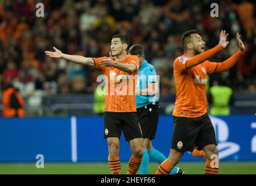
[[[121,173],[119,160],[120,135],[129,141],[132,156],[127,174],[136,174],[143,156],[143,135],[136,115],[135,87],[138,57],[127,55],[129,38],[116,34],[111,40],[109,57],[85,58],[67,55],[58,49],[45,51],[52,58],[64,58],[81,65],[95,66],[105,74],[104,138],[108,142],[108,164],[112,174]],[[112,57],[112,55],[114,57]]]

